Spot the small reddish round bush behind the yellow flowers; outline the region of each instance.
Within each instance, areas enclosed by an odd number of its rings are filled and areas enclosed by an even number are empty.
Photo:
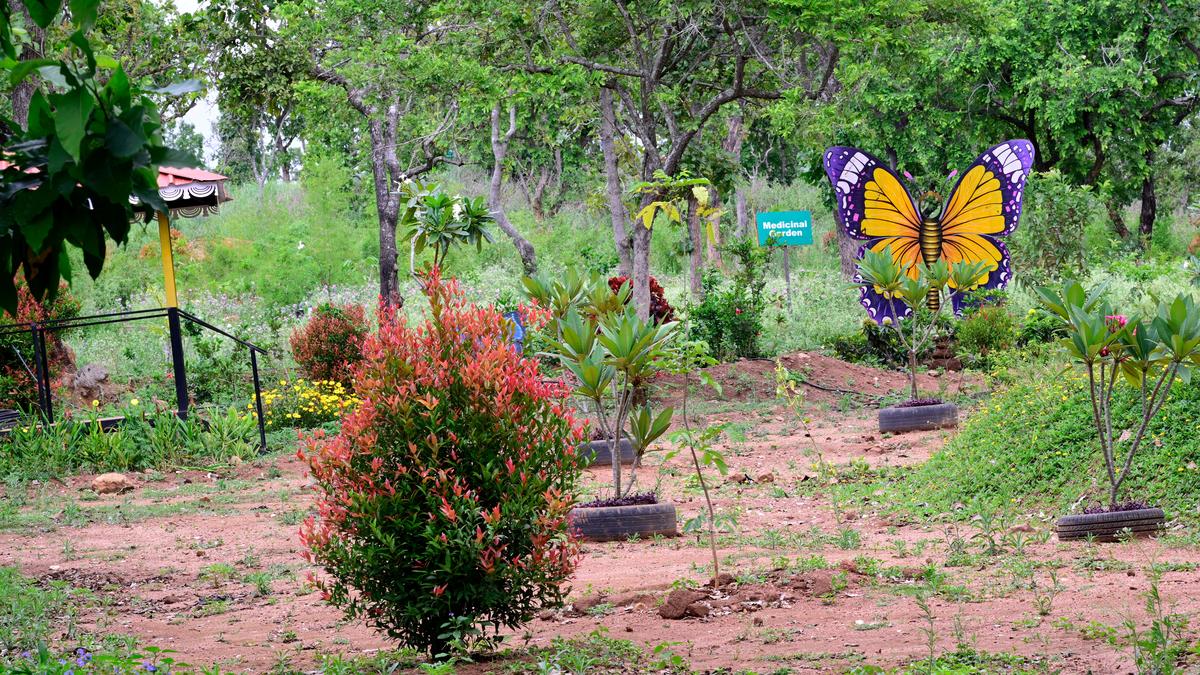
[[[370,333],[362,307],[318,305],[312,318],[292,334],[292,358],[310,380],[350,382],[350,369],[362,360],[362,338]]]

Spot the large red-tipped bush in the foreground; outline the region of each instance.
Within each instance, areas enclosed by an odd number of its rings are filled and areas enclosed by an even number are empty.
[[[562,604],[583,426],[499,311],[437,273],[426,288],[426,323],[383,316],[364,342],[341,434],[300,450],[319,492],[301,538],[326,601],[438,655]]]

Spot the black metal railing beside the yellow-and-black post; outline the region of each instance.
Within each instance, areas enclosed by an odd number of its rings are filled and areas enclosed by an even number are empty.
[[[242,340],[212,325],[211,323],[188,313],[179,307],[158,307],[152,310],[127,310],[108,312],[91,316],[78,316],[72,318],[60,318],[41,322],[14,323],[0,327],[0,336],[29,333],[34,345],[32,376],[37,382],[37,408],[46,424],[54,424],[54,396],[50,388],[50,365],[46,348],[46,335],[74,328],[88,328],[104,325],[109,323],[130,323],[134,321],[167,319],[167,329],[170,338],[170,362],[173,377],[175,380],[175,414],[180,419],[187,419],[191,399],[187,394],[187,364],[184,357],[184,330],[182,321],[211,330],[223,338],[233,340],[250,352],[250,369],[254,382],[254,411],[258,420],[259,449],[266,449],[266,425],[263,416],[263,388],[258,374],[258,354],[266,356],[266,350]],[[24,363],[24,358],[18,352],[18,358]],[[25,366],[29,368],[28,365]]]

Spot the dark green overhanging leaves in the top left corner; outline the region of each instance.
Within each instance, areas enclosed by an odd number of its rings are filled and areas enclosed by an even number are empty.
[[[25,129],[0,118],[6,132],[0,154],[0,307],[17,311],[13,277],[24,270],[35,299],[53,294],[61,277],[71,279],[67,246],[83,251],[92,277],[104,265],[108,239],[121,244],[130,221],[145,209],[166,211],[158,196],[157,166],[194,162],[173,153],[162,139],[157,108],[110,58],[98,58],[86,31],[96,20],[98,0],[71,4],[76,31],[67,58],[17,61],[11,17],[0,6],[0,68],[11,86],[38,72],[55,91],[34,92]],[[61,0],[24,2],[34,23],[49,28]],[[192,84],[164,88],[185,94]],[[130,203],[136,197],[140,207]]]

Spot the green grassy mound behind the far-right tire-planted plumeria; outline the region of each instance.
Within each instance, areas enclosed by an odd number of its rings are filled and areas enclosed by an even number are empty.
[[[1114,402],[1120,412],[1114,424],[1121,429],[1140,413],[1128,394],[1118,388]],[[1200,453],[1198,430],[1200,382],[1178,383],[1134,460],[1123,486],[1127,498],[1162,506],[1175,518],[1195,513],[1200,465],[1187,458]],[[875,494],[881,489],[882,498]],[[1108,482],[1086,382],[1052,369],[1030,371],[974,410],[924,465],[840,490],[845,498],[878,501],[918,516],[967,518],[1014,508],[1062,513],[1085,494],[1085,502],[1102,501]]]

